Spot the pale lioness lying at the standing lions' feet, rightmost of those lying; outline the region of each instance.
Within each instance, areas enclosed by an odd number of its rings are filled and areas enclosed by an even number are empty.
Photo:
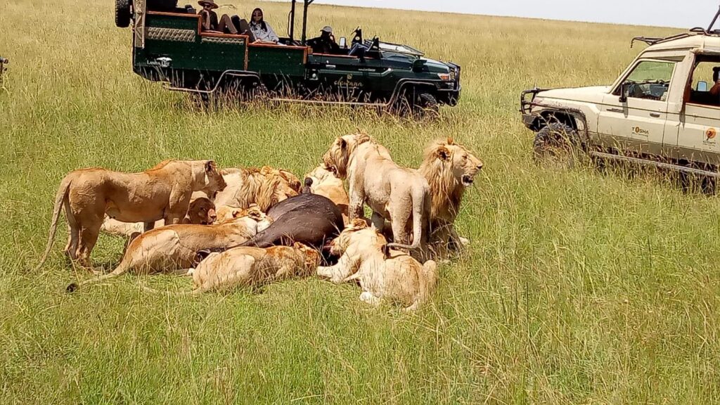
[[[378,305],[382,298],[413,311],[433,295],[438,274],[437,264],[420,264],[404,252],[387,249],[387,241],[375,228],[354,220],[333,241],[331,252],[342,254],[338,264],[318,267],[318,275],[334,282],[359,280],[360,300]]]

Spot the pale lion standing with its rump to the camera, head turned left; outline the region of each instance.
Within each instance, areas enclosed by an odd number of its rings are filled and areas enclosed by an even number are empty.
[[[387,149],[364,133],[337,138],[323,162],[334,167],[339,177],[348,179],[350,221],[364,218],[363,204],[367,203],[373,210],[372,223],[379,231],[385,219],[390,221],[394,243],[388,246],[425,247],[431,196],[422,174],[397,166]]]

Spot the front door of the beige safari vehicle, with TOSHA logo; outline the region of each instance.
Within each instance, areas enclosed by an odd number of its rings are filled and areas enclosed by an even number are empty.
[[[636,61],[603,97],[598,115],[598,135],[603,143],[625,151],[662,153],[667,94],[676,65],[657,59]]]

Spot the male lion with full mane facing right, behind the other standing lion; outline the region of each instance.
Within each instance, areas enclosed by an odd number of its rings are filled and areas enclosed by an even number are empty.
[[[461,239],[454,230],[455,218],[465,189],[472,185],[480,169],[482,161],[452,138],[434,141],[426,148],[419,171],[430,184],[431,244],[436,253],[459,246]]]

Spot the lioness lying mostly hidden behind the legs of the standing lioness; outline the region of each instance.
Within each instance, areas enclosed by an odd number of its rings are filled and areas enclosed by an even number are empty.
[[[193,192],[187,215],[185,215],[181,223],[210,225],[211,223],[215,223],[216,219],[215,204],[212,203],[210,198],[202,191]],[[161,219],[155,222],[153,228],[160,228],[163,225],[165,225],[165,221]],[[115,236],[127,236],[130,238],[133,238],[138,233],[143,233],[144,230],[145,224],[142,222],[120,222],[117,221],[117,219],[109,218],[107,215],[100,227],[100,231]]]

